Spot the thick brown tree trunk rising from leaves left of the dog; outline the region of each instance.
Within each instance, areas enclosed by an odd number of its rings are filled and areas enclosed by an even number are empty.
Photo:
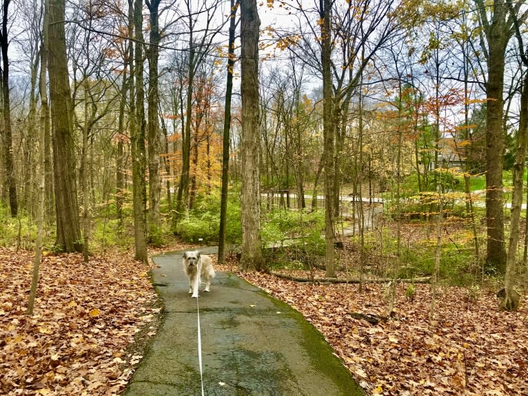
[[[50,101],[53,125],[53,165],[55,207],[57,212],[57,246],[63,251],[81,251],[77,176],[73,140],[72,96],[66,59],[64,32],[65,1],[49,4]]]

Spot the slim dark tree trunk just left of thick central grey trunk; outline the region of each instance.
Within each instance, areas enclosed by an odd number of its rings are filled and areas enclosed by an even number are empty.
[[[220,201],[220,229],[219,229],[219,264],[225,263],[225,225],[227,222],[227,189],[229,187],[229,154],[231,130],[231,96],[233,92],[234,67],[234,36],[236,27],[236,10],[238,1],[231,0],[231,16],[229,25],[229,48],[227,50],[227,81],[225,87],[225,107],[222,140],[222,187]]]

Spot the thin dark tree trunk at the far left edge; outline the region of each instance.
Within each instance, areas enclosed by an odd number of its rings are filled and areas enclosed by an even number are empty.
[[[3,136],[4,136],[4,153],[3,158],[6,163],[6,176],[9,191],[9,205],[11,209],[11,216],[17,217],[18,213],[18,198],[17,198],[17,178],[14,174],[13,163],[13,139],[12,139],[12,125],[11,125],[11,100],[10,100],[10,86],[9,86],[9,5],[11,0],[2,1],[2,26],[0,30],[0,50],[2,54],[2,116],[3,116]]]

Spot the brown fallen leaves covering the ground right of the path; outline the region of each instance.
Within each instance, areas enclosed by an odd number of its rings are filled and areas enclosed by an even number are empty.
[[[387,287],[298,284],[272,275],[243,277],[300,311],[323,333],[367,395],[528,395],[528,307],[498,311],[494,293],[440,289],[429,323],[429,285],[414,302],[398,286],[396,315],[377,325],[350,313],[385,315]]]

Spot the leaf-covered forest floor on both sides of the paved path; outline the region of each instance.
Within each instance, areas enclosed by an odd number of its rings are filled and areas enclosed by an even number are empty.
[[[32,262],[32,252],[0,248],[0,394],[119,394],[161,320],[149,268],[130,252],[94,256],[88,265],[79,254],[45,256],[35,312],[27,316]],[[528,395],[525,301],[505,313],[492,289],[442,286],[431,323],[429,285],[416,284],[409,301],[400,284],[396,314],[369,324],[352,315],[385,315],[383,284],[365,284],[359,293],[357,284],[240,273],[233,262],[219,270],[300,311],[367,395]]]

